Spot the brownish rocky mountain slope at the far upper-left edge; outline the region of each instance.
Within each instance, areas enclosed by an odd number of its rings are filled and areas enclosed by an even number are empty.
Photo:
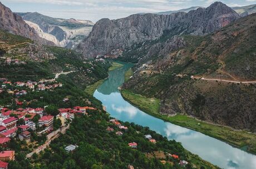
[[[11,9],[7,8],[0,2],[0,29],[7,30],[10,33],[21,35],[26,38],[35,40],[42,44],[54,45],[52,42],[41,38],[35,29],[29,27],[29,25],[23,21],[23,19],[17,14],[13,13]]]

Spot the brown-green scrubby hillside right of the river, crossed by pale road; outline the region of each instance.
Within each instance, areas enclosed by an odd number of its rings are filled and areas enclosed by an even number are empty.
[[[194,79],[255,81],[255,20],[251,14],[204,37],[183,36],[184,47],[160,48],[157,57],[137,64],[123,88],[161,99],[161,114],[187,114],[255,132],[254,83]]]

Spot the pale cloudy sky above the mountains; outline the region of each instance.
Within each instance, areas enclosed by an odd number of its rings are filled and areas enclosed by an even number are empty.
[[[1,1],[1,0],[0,0]],[[55,18],[92,22],[124,18],[135,13],[176,11],[192,6],[208,7],[214,0],[2,0],[13,12],[38,12]],[[224,0],[230,7],[256,4],[256,0]]]

